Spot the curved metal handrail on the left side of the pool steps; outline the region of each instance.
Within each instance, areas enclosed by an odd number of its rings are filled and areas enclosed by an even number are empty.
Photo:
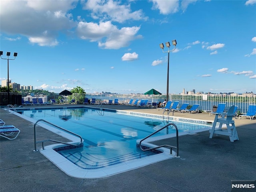
[[[42,140],[42,141],[36,141],[36,124],[37,124],[39,121],[46,122],[46,123],[48,123],[48,124],[50,124],[50,125],[52,125],[52,126],[55,126],[55,127],[59,128],[59,129],[65,131],[65,132],[68,132],[68,133],[70,133],[70,134],[73,134],[73,135],[79,137],[79,138],[80,138],[80,143],[79,143],[79,144],[72,144],[72,143],[67,143],[67,142],[62,142],[62,141],[57,141],[57,140],[52,140],[52,139]],[[46,141],[52,141],[52,142],[67,144],[67,145],[71,145],[71,146],[79,146],[80,144],[82,144],[83,138],[82,138],[80,135],[78,135],[78,134],[75,134],[75,133],[73,133],[73,132],[71,132],[71,131],[68,131],[68,130],[62,128],[62,127],[59,127],[59,126],[57,126],[57,125],[54,125],[54,124],[52,124],[52,123],[50,123],[50,122],[48,122],[48,121],[46,121],[46,120],[44,120],[44,119],[39,119],[39,120],[37,120],[36,123],[34,124],[34,146],[35,146],[34,151],[38,151],[38,150],[36,149],[36,144],[37,144],[37,143],[42,143],[42,148],[43,148],[43,150],[44,150],[44,142],[46,142]]]

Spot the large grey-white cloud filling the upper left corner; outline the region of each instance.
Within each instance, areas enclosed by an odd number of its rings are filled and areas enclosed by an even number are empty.
[[[58,32],[76,25],[72,15],[66,13],[74,8],[74,2],[1,1],[1,31],[26,36],[31,43],[40,46],[56,46]]]

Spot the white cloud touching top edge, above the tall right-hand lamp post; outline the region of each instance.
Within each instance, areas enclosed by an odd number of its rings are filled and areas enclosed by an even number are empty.
[[[179,10],[179,0],[159,1],[151,0],[153,2],[153,9],[158,9],[161,14],[167,15],[176,13]]]

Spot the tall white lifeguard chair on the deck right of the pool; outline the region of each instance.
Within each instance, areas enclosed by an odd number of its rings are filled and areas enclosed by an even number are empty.
[[[233,105],[228,109],[227,113],[213,113],[215,114],[215,119],[212,125],[212,129],[209,130],[210,138],[212,138],[213,134],[216,134],[216,136],[218,135],[229,136],[231,142],[234,142],[234,140],[239,140],[238,134],[236,131],[235,122],[234,120],[232,120],[234,116],[234,109],[235,109],[235,106]],[[217,122],[220,123],[218,128],[216,128]],[[223,124],[226,124],[227,127],[222,128]]]

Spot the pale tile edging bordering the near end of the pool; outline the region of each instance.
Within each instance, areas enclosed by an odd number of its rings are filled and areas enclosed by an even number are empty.
[[[115,110],[115,111],[119,112],[119,110]],[[19,114],[12,110],[10,110],[9,112],[11,112],[17,116],[20,116],[21,118],[28,120],[29,122],[32,122],[33,124],[37,121],[32,118],[25,117],[22,114]],[[124,111],[122,111],[122,112],[124,112]],[[128,114],[130,114],[130,112],[128,112]],[[145,113],[140,113],[140,114],[145,114]],[[150,114],[148,114],[148,115],[150,115]],[[41,127],[45,128],[51,132],[54,132],[64,138],[67,138],[67,139],[71,140],[72,143],[80,142],[80,139],[77,138],[76,136],[72,136],[66,132],[62,132],[56,128],[53,128],[52,126],[48,126],[48,125],[46,125],[44,123],[40,123],[40,122],[38,122],[38,126],[41,126]],[[185,134],[196,134],[196,132],[202,132],[205,130],[209,130],[209,128],[193,130],[190,132],[180,132],[179,136],[185,135]],[[150,147],[150,148],[155,147],[156,145],[150,144],[148,142],[153,142],[156,140],[171,138],[171,137],[175,137],[175,136],[176,136],[176,134],[169,134],[169,135],[164,135],[164,136],[157,136],[154,138],[148,138],[144,142],[142,142],[142,145]],[[136,142],[139,143],[140,140],[137,140]],[[170,149],[158,148],[158,150],[162,151],[162,153],[152,155],[152,156],[147,156],[147,157],[144,157],[141,159],[130,160],[128,162],[122,162],[120,164],[112,165],[112,166],[108,166],[108,167],[104,167],[104,168],[98,168],[95,170],[87,170],[87,169],[82,169],[82,168],[76,166],[75,164],[73,164],[72,162],[67,160],[64,156],[60,155],[58,152],[53,150],[54,148],[58,148],[61,146],[66,146],[66,145],[54,144],[54,145],[46,146],[44,150],[40,149],[39,151],[41,152],[41,154],[43,154],[46,158],[48,158],[48,160],[50,160],[53,164],[55,164],[64,173],[66,173],[69,176],[76,177],[76,178],[104,178],[104,177],[112,176],[112,175],[119,174],[122,172],[126,172],[129,170],[134,170],[134,169],[137,169],[137,168],[140,168],[143,166],[147,166],[149,164],[154,164],[156,162],[160,162],[162,160],[167,160],[167,159],[170,159],[170,158],[173,158],[176,156],[176,152],[174,150],[172,150],[172,154],[170,154]]]

